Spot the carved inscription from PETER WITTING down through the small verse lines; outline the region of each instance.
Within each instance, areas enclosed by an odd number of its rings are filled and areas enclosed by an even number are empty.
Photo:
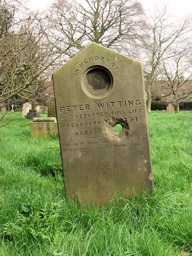
[[[88,139],[104,138],[105,134],[109,134],[110,130],[112,136],[108,139],[110,139],[112,144],[117,143],[117,145],[110,145],[108,143],[103,146],[101,141],[97,141],[94,144],[98,144],[99,146],[85,147],[86,150],[110,149],[113,146],[125,147],[127,145],[137,147],[141,145],[140,141],[135,142],[134,139],[132,141],[130,138],[124,139],[123,136],[118,141],[117,137],[113,139],[113,126],[115,123],[111,123],[110,126],[108,121],[110,120],[109,117],[114,118],[113,120],[117,120],[117,122],[123,120],[125,124],[127,123],[127,127],[129,127],[129,123],[140,123],[139,115],[143,112],[140,105],[140,99],[95,102],[95,105],[90,105],[89,103],[73,104],[60,106],[58,117],[61,120],[68,121],[65,123],[65,126],[68,130],[72,131],[74,137],[86,136]],[[98,109],[99,112],[92,112],[95,109]],[[123,123],[122,125],[124,126]],[[88,144],[91,144],[91,142],[88,141]],[[71,147],[70,145],[64,149],[65,151],[76,151],[78,147]]]

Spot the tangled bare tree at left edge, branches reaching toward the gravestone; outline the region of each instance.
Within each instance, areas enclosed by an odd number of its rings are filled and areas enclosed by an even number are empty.
[[[18,98],[34,101],[48,97],[42,81],[50,77],[61,54],[67,56],[70,48],[81,38],[81,35],[77,35],[73,41],[68,41],[62,48],[62,53],[55,52],[54,44],[50,45],[46,36],[45,25],[48,24],[48,16],[27,12],[27,10],[25,15],[22,15],[20,9],[17,9],[17,3],[20,4],[14,0],[8,5],[5,0],[3,9],[0,8],[0,12],[3,10],[2,16],[5,14],[5,21],[0,24],[0,31],[2,31],[0,37],[1,105]],[[2,7],[1,3],[0,7]],[[17,11],[20,12],[19,15]]]

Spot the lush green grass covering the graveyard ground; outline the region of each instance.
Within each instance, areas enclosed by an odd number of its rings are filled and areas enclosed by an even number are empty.
[[[57,137],[1,128],[0,255],[192,255],[192,112],[148,120],[154,194],[88,209],[65,199]]]

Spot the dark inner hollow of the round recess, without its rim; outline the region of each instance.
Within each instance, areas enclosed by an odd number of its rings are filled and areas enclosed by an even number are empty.
[[[111,77],[102,68],[91,69],[84,77],[84,86],[93,95],[102,95],[108,92],[112,84]]]

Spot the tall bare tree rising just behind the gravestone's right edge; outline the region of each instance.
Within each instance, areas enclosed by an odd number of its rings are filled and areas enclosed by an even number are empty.
[[[145,45],[147,61],[145,65],[145,90],[147,93],[147,112],[151,112],[152,88],[159,72],[161,61],[172,56],[171,49],[179,46],[187,38],[191,31],[189,17],[177,24],[169,20],[166,7],[163,10],[155,8],[155,13],[148,19],[149,40]]]

